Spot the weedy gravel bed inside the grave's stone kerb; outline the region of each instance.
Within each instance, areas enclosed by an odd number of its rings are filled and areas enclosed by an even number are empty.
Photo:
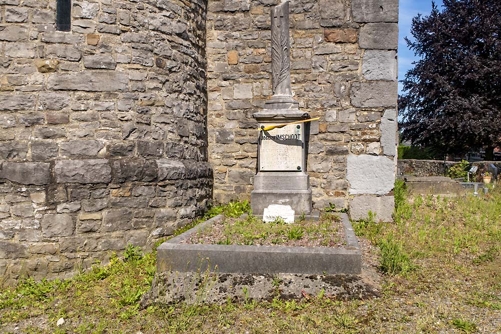
[[[181,243],[342,247],[345,233],[341,219],[333,214],[325,214],[319,221],[303,220],[293,224],[224,217]]]

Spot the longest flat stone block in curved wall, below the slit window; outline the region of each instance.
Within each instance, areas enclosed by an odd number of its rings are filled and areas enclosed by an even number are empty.
[[[47,88],[86,92],[127,91],[129,79],[122,72],[79,72],[54,74],[47,79]]]

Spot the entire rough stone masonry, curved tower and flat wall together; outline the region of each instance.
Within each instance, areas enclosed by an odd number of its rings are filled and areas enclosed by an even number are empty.
[[[249,196],[278,3],[74,0],[60,32],[56,0],[0,0],[0,276],[71,275]],[[397,21],[397,0],[291,1],[317,208],[391,218]]]

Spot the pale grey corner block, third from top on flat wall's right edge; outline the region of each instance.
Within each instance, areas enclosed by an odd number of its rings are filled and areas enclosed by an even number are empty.
[[[397,79],[395,51],[366,50],[362,73],[366,80],[395,81]]]

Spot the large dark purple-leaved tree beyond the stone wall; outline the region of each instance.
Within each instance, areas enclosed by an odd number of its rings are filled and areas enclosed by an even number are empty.
[[[412,20],[420,60],[402,80],[403,139],[441,153],[501,144],[501,1],[444,0]]]

